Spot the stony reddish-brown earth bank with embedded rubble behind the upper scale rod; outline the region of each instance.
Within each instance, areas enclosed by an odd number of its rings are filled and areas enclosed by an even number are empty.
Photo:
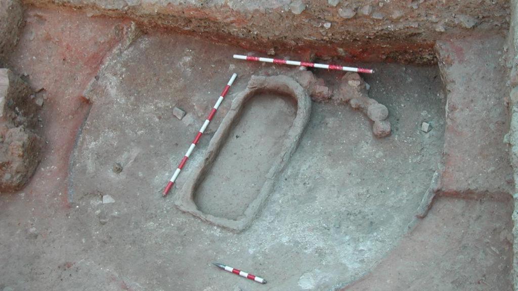
[[[203,35],[263,54],[298,51],[347,61],[433,64],[436,40],[509,26],[509,1],[28,0],[38,7],[82,8],[129,17],[155,31]],[[308,60],[309,61],[309,60]]]

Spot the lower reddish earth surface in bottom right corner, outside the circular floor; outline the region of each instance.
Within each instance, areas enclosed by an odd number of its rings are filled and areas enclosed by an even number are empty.
[[[511,213],[509,202],[439,198],[378,267],[342,291],[512,290]]]

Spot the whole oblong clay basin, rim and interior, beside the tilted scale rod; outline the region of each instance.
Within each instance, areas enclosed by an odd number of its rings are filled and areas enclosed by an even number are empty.
[[[295,151],[309,120],[307,92],[286,76],[254,77],[209,143],[177,207],[231,230],[248,227]]]

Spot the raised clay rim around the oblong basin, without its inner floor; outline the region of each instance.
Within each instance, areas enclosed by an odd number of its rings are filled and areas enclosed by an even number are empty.
[[[212,163],[218,156],[219,151],[226,141],[236,119],[240,118],[241,110],[247,101],[253,96],[263,92],[275,92],[281,95],[292,97],[296,101],[297,113],[293,124],[288,131],[282,149],[274,159],[272,166],[266,174],[266,181],[261,187],[260,193],[249,204],[244,214],[238,220],[226,219],[224,217],[214,216],[198,210],[194,202],[194,195],[198,185],[198,181],[204,178],[204,174],[212,167]],[[240,92],[232,102],[231,109],[221,122],[218,130],[212,137],[207,152],[204,155],[202,165],[193,170],[188,180],[183,185],[175,200],[178,209],[193,214],[200,219],[211,224],[221,226],[233,231],[241,231],[250,226],[258,213],[264,207],[267,198],[274,189],[275,182],[279,173],[284,169],[290,157],[295,152],[300,137],[304,133],[304,129],[311,115],[311,99],[295,80],[290,77],[279,75],[272,77],[252,76],[248,82],[247,88]],[[239,122],[239,121],[238,121]]]

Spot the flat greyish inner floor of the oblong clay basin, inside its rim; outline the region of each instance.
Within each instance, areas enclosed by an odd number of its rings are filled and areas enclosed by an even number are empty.
[[[275,93],[248,100],[195,192],[200,211],[226,219],[243,215],[282,150],[296,111],[293,99]]]

